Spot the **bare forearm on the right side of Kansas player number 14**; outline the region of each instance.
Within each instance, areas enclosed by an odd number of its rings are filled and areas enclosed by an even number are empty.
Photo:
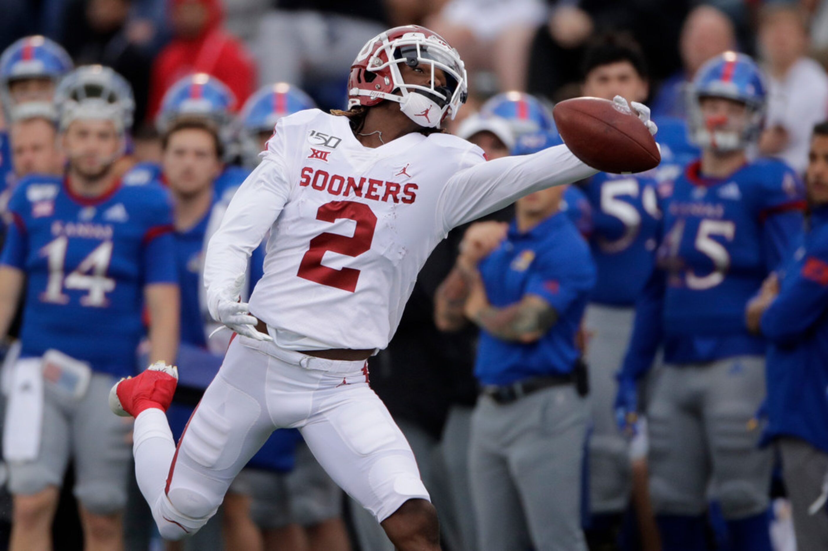
[[[144,298],[150,317],[150,363],[163,360],[168,365],[176,362],[179,335],[178,285],[155,283],[144,287]]]

